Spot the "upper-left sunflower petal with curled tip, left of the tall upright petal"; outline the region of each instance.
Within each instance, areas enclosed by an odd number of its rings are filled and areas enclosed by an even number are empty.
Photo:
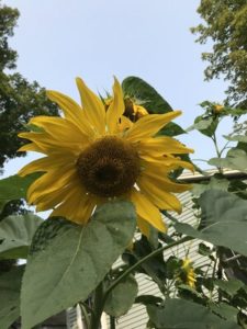
[[[58,91],[48,90],[46,91],[46,93],[48,99],[57,103],[58,106],[63,110],[65,117],[71,121],[81,131],[81,133],[88,136],[93,136],[93,131],[88,124],[85,116],[85,111],[82,111],[80,105],[78,105],[66,94],[63,94]]]

